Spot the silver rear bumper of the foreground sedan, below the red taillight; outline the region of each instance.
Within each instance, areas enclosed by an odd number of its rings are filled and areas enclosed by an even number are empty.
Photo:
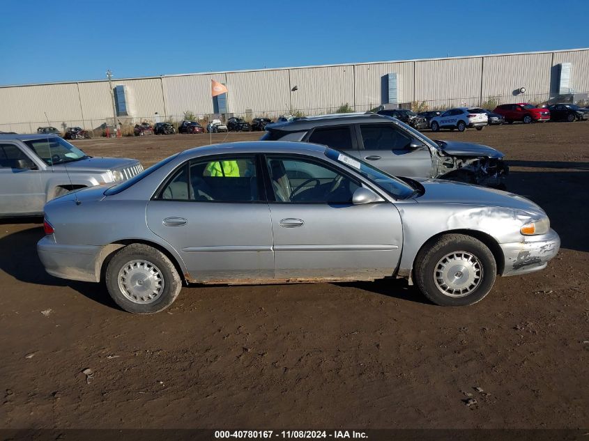
[[[45,271],[70,280],[99,281],[96,262],[101,249],[94,245],[59,245],[52,235],[46,235],[37,243],[37,254]]]

